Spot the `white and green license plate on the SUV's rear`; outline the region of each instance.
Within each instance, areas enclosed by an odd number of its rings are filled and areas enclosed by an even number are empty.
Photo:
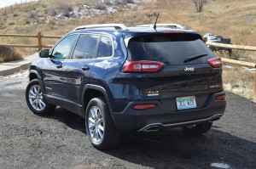
[[[196,107],[195,96],[188,96],[176,99],[177,110],[186,110]]]

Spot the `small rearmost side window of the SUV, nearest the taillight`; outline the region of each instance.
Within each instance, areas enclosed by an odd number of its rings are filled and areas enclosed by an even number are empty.
[[[113,47],[112,47],[111,38],[102,36],[100,45],[99,45],[98,57],[108,57],[108,56],[112,56],[112,54],[113,54]]]

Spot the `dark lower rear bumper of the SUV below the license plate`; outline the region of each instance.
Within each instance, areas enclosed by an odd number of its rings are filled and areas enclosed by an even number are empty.
[[[207,99],[207,104],[197,109],[167,110],[158,100],[131,102],[121,113],[113,113],[113,122],[120,131],[150,131],[158,127],[182,127],[204,121],[218,120],[226,106],[225,100],[215,100],[218,95],[214,93]],[[133,110],[135,104],[156,104],[148,110]]]

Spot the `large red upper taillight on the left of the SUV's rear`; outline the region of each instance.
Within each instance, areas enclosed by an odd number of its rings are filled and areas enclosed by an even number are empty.
[[[160,62],[154,61],[127,61],[124,65],[125,72],[154,72],[161,69],[163,66]]]

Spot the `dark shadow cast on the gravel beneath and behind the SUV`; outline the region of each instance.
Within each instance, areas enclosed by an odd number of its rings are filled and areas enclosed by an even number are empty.
[[[68,110],[58,108],[44,118],[86,133],[84,118]],[[205,135],[196,137],[183,134],[180,128],[124,133],[116,149],[102,154],[131,162],[138,168],[216,168],[215,164],[222,165],[219,168],[256,168],[256,143],[214,125]]]

